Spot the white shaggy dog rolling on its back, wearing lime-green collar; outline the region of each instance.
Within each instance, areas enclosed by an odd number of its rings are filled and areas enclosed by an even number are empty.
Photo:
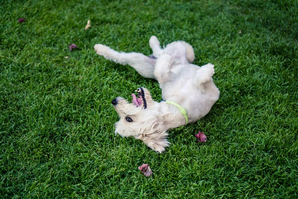
[[[214,65],[191,64],[195,55],[190,44],[174,41],[161,48],[156,36],[151,36],[149,45],[153,51],[150,56],[117,52],[102,44],[94,45],[94,50],[159,82],[164,101],[153,101],[149,90],[140,87],[136,90],[138,97],[131,94],[132,103],[117,97],[112,104],[120,117],[115,133],[140,139],[161,153],[170,144],[167,130],[204,117],[218,100],[219,90],[212,81]]]

